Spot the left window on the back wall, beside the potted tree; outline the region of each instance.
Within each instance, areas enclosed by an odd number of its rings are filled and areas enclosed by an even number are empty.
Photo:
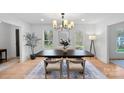
[[[44,31],[44,47],[45,48],[53,47],[53,31],[52,30]]]

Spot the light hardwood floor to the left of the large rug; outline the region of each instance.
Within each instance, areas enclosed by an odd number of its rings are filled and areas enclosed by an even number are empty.
[[[23,63],[19,63],[19,60],[15,64],[11,65],[7,69],[0,71],[0,78],[2,79],[23,79],[40,61],[42,58],[36,58],[35,60],[28,60]],[[11,62],[3,63],[8,65]]]

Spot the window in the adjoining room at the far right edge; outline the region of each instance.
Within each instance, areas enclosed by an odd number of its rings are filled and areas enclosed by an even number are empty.
[[[124,52],[124,31],[120,31],[117,36],[117,52]]]

